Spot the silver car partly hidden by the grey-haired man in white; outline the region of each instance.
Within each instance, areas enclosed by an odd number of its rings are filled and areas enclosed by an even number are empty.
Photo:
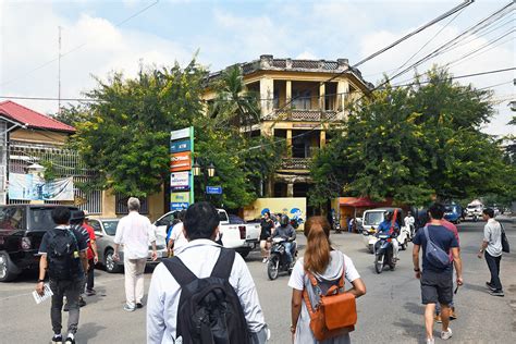
[[[123,245],[119,249],[120,260],[114,261],[114,235],[116,234],[116,226],[119,225],[120,219],[89,219],[89,225],[95,230],[95,236],[97,237],[97,251],[99,255],[99,262],[103,265],[106,271],[115,273],[122,271],[124,265],[124,250]],[[167,246],[163,242],[158,243],[156,241],[156,248],[158,250],[158,259],[151,260],[152,246],[149,243],[149,255],[147,265],[157,265],[161,258],[167,258]]]

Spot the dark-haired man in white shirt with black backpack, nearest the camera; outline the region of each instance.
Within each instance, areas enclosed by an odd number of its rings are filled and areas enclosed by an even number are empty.
[[[233,300],[237,305],[224,303],[226,306],[236,307],[233,308],[234,312],[229,315],[230,323],[223,319],[218,318],[217,320],[221,321],[219,323],[223,325],[222,328],[232,328],[232,333],[248,330],[253,343],[265,343],[269,331],[253,277],[239,255],[214,243],[219,232],[217,209],[206,201],[189,206],[184,219],[184,230],[188,244],[173,258],[165,259],[163,263],[158,265],[152,273],[147,307],[147,343],[202,342],[200,339],[188,340],[197,332],[193,327],[188,327],[191,317],[185,312],[189,312],[192,308],[185,305],[197,307],[198,304],[193,303],[196,297],[192,297],[191,293],[194,291],[192,284],[183,287],[185,281],[182,279],[185,274],[189,277],[191,282],[198,284],[208,283],[211,285],[209,283],[213,281],[212,279],[217,279],[219,283],[221,280],[224,283],[229,282],[224,285],[231,290],[226,288],[224,294],[233,295],[235,293]],[[223,263],[219,263],[220,259],[224,260]],[[214,278],[211,277],[212,273],[216,274]],[[221,305],[221,303],[212,304]],[[241,323],[243,325],[236,328]],[[211,333],[209,334],[211,335]],[[224,341],[224,343],[234,342]]]

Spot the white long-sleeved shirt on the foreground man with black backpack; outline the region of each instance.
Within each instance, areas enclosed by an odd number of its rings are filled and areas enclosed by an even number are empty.
[[[176,255],[199,279],[207,278],[217,262],[220,245],[210,239],[192,241]],[[235,255],[230,284],[244,309],[250,332],[259,332],[265,325],[258,293],[249,269],[239,255]],[[163,263],[158,265],[150,281],[147,299],[147,343],[172,344],[175,340],[177,307],[181,287]]]

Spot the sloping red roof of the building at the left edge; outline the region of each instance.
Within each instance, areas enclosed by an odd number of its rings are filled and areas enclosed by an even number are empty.
[[[27,127],[42,128],[49,131],[75,133],[75,128],[71,125],[59,122],[51,116],[36,112],[12,100],[0,102],[0,115],[9,120],[19,122]]]

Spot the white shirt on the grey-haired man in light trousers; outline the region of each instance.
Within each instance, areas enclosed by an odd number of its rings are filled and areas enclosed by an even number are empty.
[[[156,233],[148,218],[131,211],[120,219],[114,243],[124,245],[124,259],[147,258],[149,242],[156,242]]]

